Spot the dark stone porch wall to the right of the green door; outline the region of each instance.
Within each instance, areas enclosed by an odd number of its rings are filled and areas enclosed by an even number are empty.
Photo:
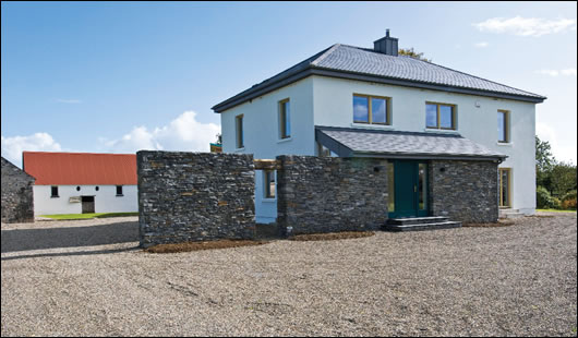
[[[432,160],[429,178],[432,216],[462,222],[497,220],[497,162]]]

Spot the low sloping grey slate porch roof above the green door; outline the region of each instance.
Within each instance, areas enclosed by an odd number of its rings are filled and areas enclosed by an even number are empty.
[[[315,126],[315,137],[340,157],[503,159],[459,134]]]

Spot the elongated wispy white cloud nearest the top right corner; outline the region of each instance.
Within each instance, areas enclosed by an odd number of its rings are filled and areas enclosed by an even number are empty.
[[[576,20],[540,17],[493,17],[484,22],[472,24],[481,32],[507,33],[520,36],[539,37],[546,34],[561,33],[567,29],[576,31]]]

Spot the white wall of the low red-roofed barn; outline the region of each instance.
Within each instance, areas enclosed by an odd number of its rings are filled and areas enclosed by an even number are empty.
[[[58,185],[59,197],[50,197],[51,185],[33,185],[34,215],[81,214],[82,203],[69,202],[73,196],[95,196],[95,213],[139,212],[136,185],[122,185],[122,196],[117,196],[117,185],[98,185],[98,191],[96,186]]]

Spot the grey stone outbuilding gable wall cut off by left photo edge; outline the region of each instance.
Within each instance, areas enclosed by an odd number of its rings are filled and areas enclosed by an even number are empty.
[[[2,222],[34,221],[35,179],[2,157]]]

